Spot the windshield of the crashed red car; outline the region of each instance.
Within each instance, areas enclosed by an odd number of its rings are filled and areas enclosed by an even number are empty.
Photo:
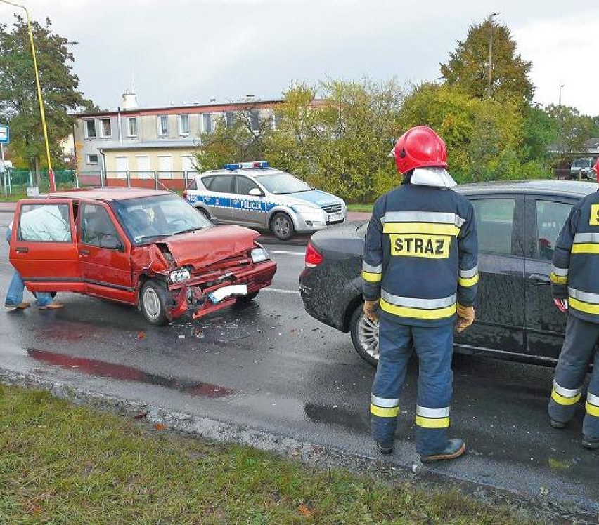
[[[176,195],[128,199],[117,201],[114,206],[136,243],[212,226],[212,222]]]

